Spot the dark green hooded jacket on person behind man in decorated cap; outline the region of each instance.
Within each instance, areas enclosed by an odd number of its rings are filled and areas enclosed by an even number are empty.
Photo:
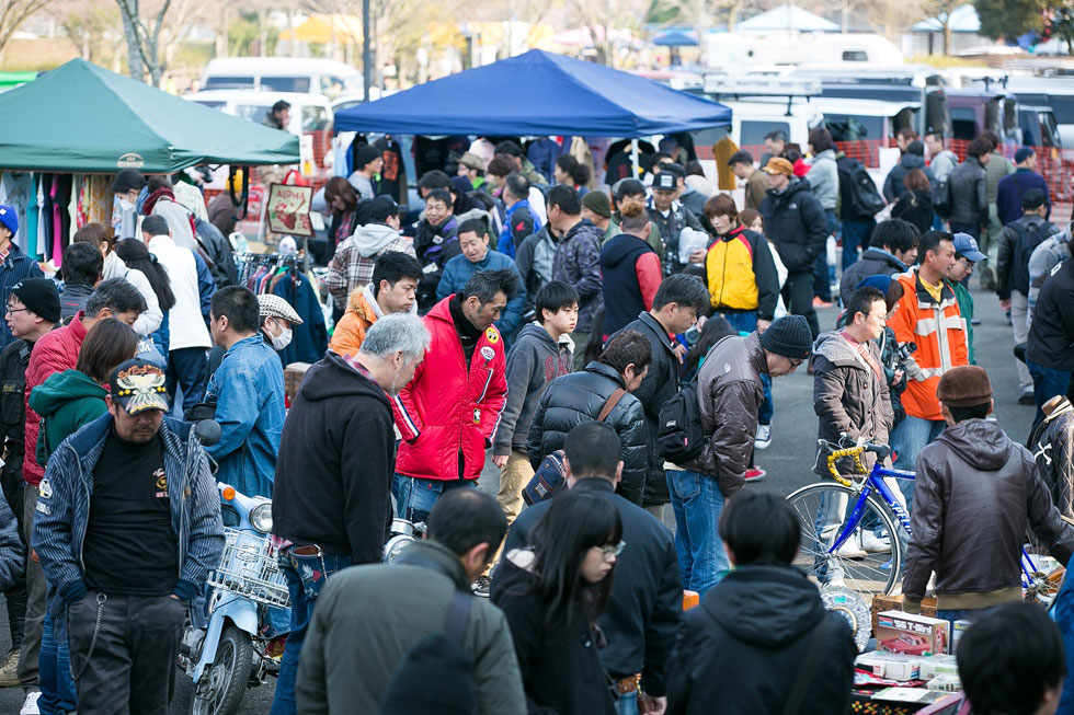
[[[30,406],[41,417],[37,463],[44,464],[59,443],[108,411],[107,390],[78,370],[55,372],[30,393]]]

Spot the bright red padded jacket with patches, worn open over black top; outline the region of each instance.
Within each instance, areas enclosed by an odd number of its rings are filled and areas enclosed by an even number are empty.
[[[478,338],[467,370],[448,308],[452,298],[436,303],[422,319],[432,342],[414,379],[392,400],[403,439],[396,471],[424,480],[478,478],[507,396],[500,332],[489,327]]]

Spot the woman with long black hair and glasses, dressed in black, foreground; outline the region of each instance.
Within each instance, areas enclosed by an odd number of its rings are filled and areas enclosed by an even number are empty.
[[[533,547],[511,551],[496,569],[492,600],[507,616],[529,712],[615,713],[596,620],[608,603],[621,539],[615,505],[565,492],[534,529]]]

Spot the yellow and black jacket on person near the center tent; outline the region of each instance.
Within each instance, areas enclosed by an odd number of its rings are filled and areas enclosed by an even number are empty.
[[[712,309],[717,312],[757,311],[772,320],[779,299],[779,276],[765,237],[738,226],[717,237],[705,256]]]

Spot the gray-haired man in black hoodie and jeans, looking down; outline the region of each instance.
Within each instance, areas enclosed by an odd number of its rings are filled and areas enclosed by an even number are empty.
[[[391,524],[396,435],[389,397],[414,377],[429,347],[421,319],[396,313],[366,332],[352,358],[334,353],[309,368],[279,438],[273,532],[290,590],[290,634],[273,713],[295,712],[302,641],[324,580],[378,563]]]

